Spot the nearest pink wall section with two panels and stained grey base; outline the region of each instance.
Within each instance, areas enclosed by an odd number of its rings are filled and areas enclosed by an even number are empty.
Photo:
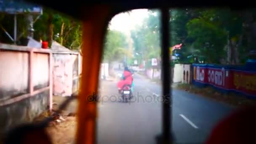
[[[52,106],[51,51],[0,43],[0,133]]]

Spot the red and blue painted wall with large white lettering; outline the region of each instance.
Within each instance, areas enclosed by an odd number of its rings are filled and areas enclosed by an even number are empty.
[[[214,64],[192,64],[193,84],[214,86],[221,91],[234,91],[256,96],[256,71],[253,67]]]

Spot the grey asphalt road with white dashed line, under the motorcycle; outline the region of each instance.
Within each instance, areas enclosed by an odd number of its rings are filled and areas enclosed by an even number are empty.
[[[101,81],[98,144],[155,144],[161,133],[161,85],[134,75],[134,98],[122,103],[116,81]],[[176,143],[203,143],[232,108],[186,91],[173,90],[172,131]]]

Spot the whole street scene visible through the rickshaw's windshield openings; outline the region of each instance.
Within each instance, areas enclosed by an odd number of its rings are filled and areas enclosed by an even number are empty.
[[[56,109],[80,89],[83,25],[49,8],[4,3],[0,138],[19,124],[54,115],[46,129],[51,140],[72,144],[77,101],[62,112]],[[11,11],[15,5],[24,11]],[[169,12],[171,131],[176,143],[204,143],[229,114],[256,104],[256,11]],[[160,18],[157,9],[136,9],[109,22],[99,72],[97,143],[153,144],[162,133]]]

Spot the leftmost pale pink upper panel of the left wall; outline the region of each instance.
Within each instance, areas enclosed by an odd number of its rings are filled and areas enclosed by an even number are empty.
[[[0,101],[29,92],[29,53],[0,51]],[[14,83],[15,82],[15,83]]]

